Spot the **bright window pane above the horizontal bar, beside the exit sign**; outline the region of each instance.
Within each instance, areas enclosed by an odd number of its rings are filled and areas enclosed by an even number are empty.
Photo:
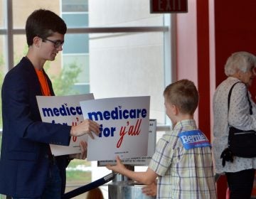
[[[162,14],[150,14],[149,0],[88,0],[90,26],[162,26]]]

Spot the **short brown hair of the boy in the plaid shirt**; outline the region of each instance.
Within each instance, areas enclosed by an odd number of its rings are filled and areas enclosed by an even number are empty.
[[[190,80],[178,80],[167,86],[164,97],[168,103],[176,105],[183,114],[193,114],[198,107],[198,90]]]

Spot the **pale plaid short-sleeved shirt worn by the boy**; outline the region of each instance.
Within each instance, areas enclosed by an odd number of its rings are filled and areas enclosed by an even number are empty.
[[[179,132],[196,129],[195,120],[183,120],[159,139],[149,163],[159,175],[156,198],[216,198],[210,147],[186,150],[178,138]]]

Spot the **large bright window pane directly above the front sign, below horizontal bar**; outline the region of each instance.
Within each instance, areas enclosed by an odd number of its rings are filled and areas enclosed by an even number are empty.
[[[164,124],[163,33],[90,35],[90,91],[96,98],[149,95]]]

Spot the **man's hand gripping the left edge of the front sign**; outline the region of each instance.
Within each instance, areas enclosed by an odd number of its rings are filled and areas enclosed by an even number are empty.
[[[99,136],[100,134],[100,124],[92,121],[91,119],[85,119],[82,123],[77,126],[71,127],[70,135],[71,136],[82,136],[88,134],[92,139],[94,139],[93,134]]]

